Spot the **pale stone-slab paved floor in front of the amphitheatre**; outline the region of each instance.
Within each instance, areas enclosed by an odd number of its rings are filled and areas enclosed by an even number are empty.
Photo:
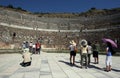
[[[105,56],[100,55],[100,63],[81,69],[80,56],[76,56],[76,65],[69,64],[69,54],[45,53],[32,55],[32,65],[21,67],[20,54],[0,55],[0,78],[120,78],[120,57],[113,57],[113,69],[105,72]],[[93,62],[93,58],[92,58]]]

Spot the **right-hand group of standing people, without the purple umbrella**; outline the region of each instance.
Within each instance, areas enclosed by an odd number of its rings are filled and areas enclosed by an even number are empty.
[[[70,46],[69,46],[69,50],[70,50],[70,64],[74,65],[75,64],[75,56],[76,56],[76,46],[77,44],[75,43],[74,40],[70,41]],[[81,68],[83,68],[83,66],[85,66],[85,68],[88,67],[88,65],[90,65],[91,62],[91,54],[93,54],[93,58],[94,58],[94,64],[99,64],[99,51],[100,51],[100,45],[98,43],[98,41],[95,41],[93,43],[86,41],[85,39],[80,41],[80,56],[81,56]],[[111,65],[112,65],[112,46],[109,42],[107,42],[106,45],[106,71],[111,71]]]

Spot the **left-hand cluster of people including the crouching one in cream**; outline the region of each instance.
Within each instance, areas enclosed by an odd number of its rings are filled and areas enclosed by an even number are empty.
[[[32,41],[30,43],[24,41],[22,44],[22,50],[23,61],[22,63],[20,63],[20,65],[23,67],[30,66],[32,61],[31,55],[40,54],[41,44],[38,41],[36,42],[36,44],[33,44]]]

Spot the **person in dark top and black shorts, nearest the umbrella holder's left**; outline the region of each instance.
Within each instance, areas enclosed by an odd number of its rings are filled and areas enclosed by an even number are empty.
[[[94,64],[99,64],[99,50],[100,50],[100,45],[98,41],[95,41],[92,46],[93,49],[93,57],[94,57]]]

